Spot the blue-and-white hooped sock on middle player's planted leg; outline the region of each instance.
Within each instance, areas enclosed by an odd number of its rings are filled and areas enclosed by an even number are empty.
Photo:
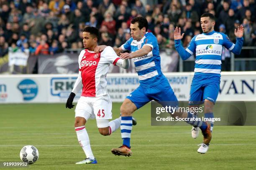
[[[122,116],[121,117],[121,136],[123,140],[123,145],[127,147],[130,146],[130,139],[131,139],[131,130],[133,128],[133,121],[131,116]]]

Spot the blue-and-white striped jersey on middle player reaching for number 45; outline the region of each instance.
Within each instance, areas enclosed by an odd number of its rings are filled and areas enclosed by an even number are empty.
[[[143,45],[152,47],[152,51],[148,55],[133,58],[138,78],[142,87],[152,87],[161,83],[166,77],[161,71],[161,59],[159,55],[159,46],[156,37],[151,32],[146,32],[140,40],[133,40],[131,37],[121,47],[123,50],[136,52]]]

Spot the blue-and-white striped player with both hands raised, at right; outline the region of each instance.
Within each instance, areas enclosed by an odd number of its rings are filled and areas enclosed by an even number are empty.
[[[182,60],[187,60],[195,53],[195,75],[192,80],[189,105],[198,107],[204,103],[204,114],[206,118],[214,118],[213,107],[220,90],[221,54],[223,46],[234,54],[240,54],[243,46],[243,25],[235,29],[236,44],[233,44],[227,35],[214,30],[215,17],[211,13],[201,16],[202,34],[195,35],[186,50],[182,47],[181,28],[174,30],[175,48]],[[193,125],[192,137],[197,138],[200,125]],[[211,122],[211,131],[213,122]],[[201,144],[197,150],[199,153],[206,153],[209,144]]]

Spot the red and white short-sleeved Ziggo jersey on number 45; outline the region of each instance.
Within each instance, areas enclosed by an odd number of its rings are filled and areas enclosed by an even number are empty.
[[[100,53],[82,50],[78,59],[83,85],[81,96],[97,97],[107,95],[106,75],[110,64],[115,65],[119,59],[110,46]]]

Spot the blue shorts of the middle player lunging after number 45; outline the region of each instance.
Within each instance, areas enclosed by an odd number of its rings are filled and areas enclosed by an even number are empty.
[[[172,103],[171,105],[173,106],[178,105],[177,97],[175,96],[168,80],[164,80],[162,83],[153,87],[141,87],[140,85],[136,90],[131,92],[131,94],[127,95],[126,98],[131,100],[136,105],[137,109],[146,105],[151,100],[155,100],[163,106],[169,106],[170,103]]]

